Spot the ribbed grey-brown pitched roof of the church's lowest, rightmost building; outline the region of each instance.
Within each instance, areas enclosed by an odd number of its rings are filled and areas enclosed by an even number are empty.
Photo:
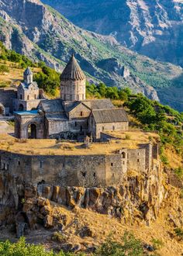
[[[96,123],[120,123],[129,122],[124,109],[98,109],[93,110]]]

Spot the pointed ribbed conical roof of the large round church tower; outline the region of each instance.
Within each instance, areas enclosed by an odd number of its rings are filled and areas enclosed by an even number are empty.
[[[76,61],[74,54],[72,54],[70,61],[67,66],[64,68],[63,73],[61,74],[61,80],[83,80],[85,79],[85,74],[81,70],[81,67]]]

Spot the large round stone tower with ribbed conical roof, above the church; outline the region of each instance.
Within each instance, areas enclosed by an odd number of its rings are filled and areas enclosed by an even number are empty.
[[[60,76],[60,93],[64,101],[81,101],[86,99],[86,78],[81,67],[72,54],[70,61]]]

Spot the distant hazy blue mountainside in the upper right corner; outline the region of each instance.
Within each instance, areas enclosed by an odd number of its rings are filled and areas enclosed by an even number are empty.
[[[183,66],[181,0],[43,0],[76,25],[112,34],[124,46]]]

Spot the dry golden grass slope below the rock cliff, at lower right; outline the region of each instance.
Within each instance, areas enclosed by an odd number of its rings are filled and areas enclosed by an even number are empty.
[[[132,231],[136,238],[142,240],[146,244],[152,244],[153,239],[161,240],[163,246],[158,250],[158,255],[172,256],[180,255],[183,251],[183,243],[178,242],[174,236],[174,224],[168,220],[169,213],[177,217],[177,209],[182,199],[178,199],[178,189],[170,190],[170,197],[164,202],[160,215],[155,222],[150,223],[150,227],[136,220],[133,225],[123,224],[120,220],[111,216],[93,213],[88,209],[68,210],[65,207],[60,207],[57,203],[53,203],[54,214],[62,214],[67,218],[67,225],[62,231],[62,237],[71,244],[90,244],[98,246],[102,244],[107,237],[112,236],[113,240],[122,242],[122,237],[125,230]],[[81,227],[88,226],[93,236],[81,238],[78,235],[78,230]],[[35,237],[34,237],[35,238]],[[47,242],[47,247],[52,247],[53,244]]]

